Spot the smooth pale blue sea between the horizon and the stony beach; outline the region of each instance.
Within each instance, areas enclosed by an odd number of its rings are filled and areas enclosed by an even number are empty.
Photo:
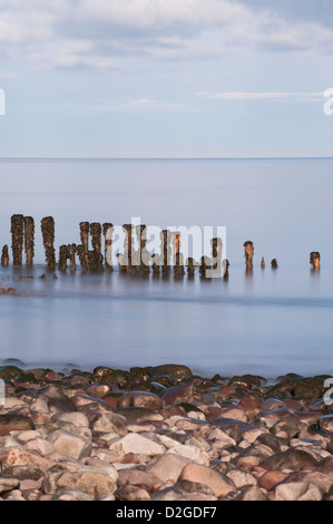
[[[31,215],[37,226],[33,270],[0,269],[1,287],[27,292],[0,297],[0,360],[58,369],[175,362],[206,376],[333,375],[333,159],[9,159],[0,174],[1,246],[10,245],[12,214]],[[39,224],[49,215],[57,250],[79,243],[81,221],[226,226],[229,279],[78,271],[39,280]],[[255,248],[251,278],[246,240]],[[311,251],[321,253],[319,274],[311,272]],[[35,278],[14,280],[19,274]]]

